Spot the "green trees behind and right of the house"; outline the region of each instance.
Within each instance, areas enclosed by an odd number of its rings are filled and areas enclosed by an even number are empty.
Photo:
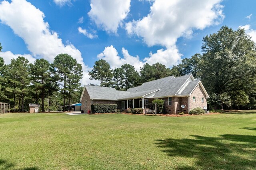
[[[202,54],[182,59],[171,69],[160,63],[146,63],[140,72],[130,64],[111,70],[110,64],[100,59],[89,72],[90,79],[99,80],[100,86],[127,90],[171,75],[193,74],[210,95],[211,109],[256,108],[256,45],[251,37],[244,29],[223,26],[203,37],[202,42]]]

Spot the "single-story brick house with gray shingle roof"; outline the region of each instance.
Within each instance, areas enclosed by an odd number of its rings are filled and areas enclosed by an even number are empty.
[[[87,112],[91,110],[91,104],[117,104],[118,109],[144,108],[144,104],[152,103],[154,99],[162,99],[166,113],[177,114],[181,111],[188,113],[196,107],[207,109],[207,98],[209,96],[202,82],[189,74],[145,82],[126,92],[85,85],[80,102],[82,110]]]

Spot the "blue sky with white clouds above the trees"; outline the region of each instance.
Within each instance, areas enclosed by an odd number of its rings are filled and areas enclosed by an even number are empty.
[[[254,0],[2,0],[0,56],[53,61],[68,53],[83,65],[82,84],[98,59],[172,67],[200,53],[202,38],[222,25],[242,26],[256,41]]]

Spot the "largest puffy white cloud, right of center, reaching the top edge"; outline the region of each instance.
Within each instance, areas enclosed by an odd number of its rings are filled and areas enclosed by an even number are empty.
[[[137,21],[126,23],[129,35],[142,37],[148,46],[162,45],[156,54],[145,58],[171,66],[180,60],[181,54],[176,47],[179,37],[190,38],[194,29],[204,29],[219,24],[224,19],[222,0],[155,0],[150,13]]]

